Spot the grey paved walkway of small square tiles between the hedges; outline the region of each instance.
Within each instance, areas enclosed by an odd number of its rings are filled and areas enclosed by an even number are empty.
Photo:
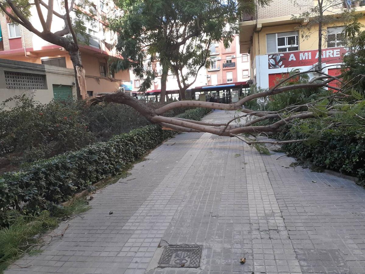
[[[177,135],[5,273],[365,273],[365,189],[281,155]],[[200,268],[157,269],[166,243],[203,245]]]

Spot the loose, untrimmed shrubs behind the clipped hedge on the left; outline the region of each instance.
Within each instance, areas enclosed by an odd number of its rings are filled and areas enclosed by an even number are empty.
[[[12,103],[11,109],[8,103]],[[146,103],[159,108],[163,103]],[[190,108],[173,109],[176,116]],[[101,103],[85,107],[82,101],[40,104],[25,95],[0,105],[0,172],[107,141],[113,135],[150,124],[134,108]]]

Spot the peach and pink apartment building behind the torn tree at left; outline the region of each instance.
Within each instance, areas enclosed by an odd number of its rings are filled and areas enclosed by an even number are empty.
[[[77,38],[80,44],[81,60],[85,68],[85,77],[87,83],[87,93],[89,96],[97,94],[115,92],[123,84],[128,84],[130,76],[128,71],[111,73],[109,70],[109,59],[115,56],[114,42],[116,34],[108,29],[108,23],[105,22],[104,16],[114,14],[118,16],[118,9],[114,2],[110,0],[80,0],[76,2],[75,8],[81,12],[91,15],[89,22],[84,22],[85,32],[78,32]],[[54,1],[55,11],[64,14],[62,3]],[[41,22],[37,16],[36,7],[31,8],[30,21],[34,27],[41,30]],[[46,15],[46,8],[42,6],[42,11]],[[73,15],[73,13],[71,13]],[[61,30],[64,27],[64,21],[57,16],[53,16],[51,31]],[[56,66],[61,68],[73,69],[72,62],[68,52],[57,45],[53,45],[36,34],[28,31],[21,25],[11,22],[3,13],[0,13],[0,59],[14,61],[23,61],[29,63]],[[31,72],[18,75],[17,81],[27,81]],[[40,99],[42,103],[47,103],[50,98],[59,97],[59,93],[73,93],[74,81],[67,85],[57,82],[49,83],[51,86],[61,86],[54,89],[52,96],[45,96]],[[12,81],[15,81],[14,79]],[[30,86],[30,89],[32,87]],[[34,89],[35,90],[35,89]],[[34,93],[34,90],[31,92]],[[27,91],[29,92],[29,90]],[[74,94],[73,94],[74,95]]]

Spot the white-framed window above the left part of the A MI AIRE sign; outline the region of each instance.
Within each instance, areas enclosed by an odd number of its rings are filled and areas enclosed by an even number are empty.
[[[299,50],[297,31],[266,34],[267,53]]]

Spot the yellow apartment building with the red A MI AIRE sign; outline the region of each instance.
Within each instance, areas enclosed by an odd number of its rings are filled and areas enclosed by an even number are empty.
[[[292,69],[308,70],[318,63],[318,26],[314,26],[307,37],[308,32],[298,28],[306,22],[292,19],[293,15],[309,11],[315,2],[273,0],[268,6],[257,6],[255,15],[241,17],[239,51],[250,55],[250,73],[255,84],[269,88]],[[332,3],[336,5],[327,9],[326,14],[351,8],[347,1]],[[365,6],[356,7],[356,12],[364,10]],[[364,24],[365,20],[360,22]],[[325,25],[323,29],[326,31],[322,43],[323,72],[338,75],[342,56],[346,53],[341,42],[343,23]],[[310,74],[310,77],[314,76]]]

